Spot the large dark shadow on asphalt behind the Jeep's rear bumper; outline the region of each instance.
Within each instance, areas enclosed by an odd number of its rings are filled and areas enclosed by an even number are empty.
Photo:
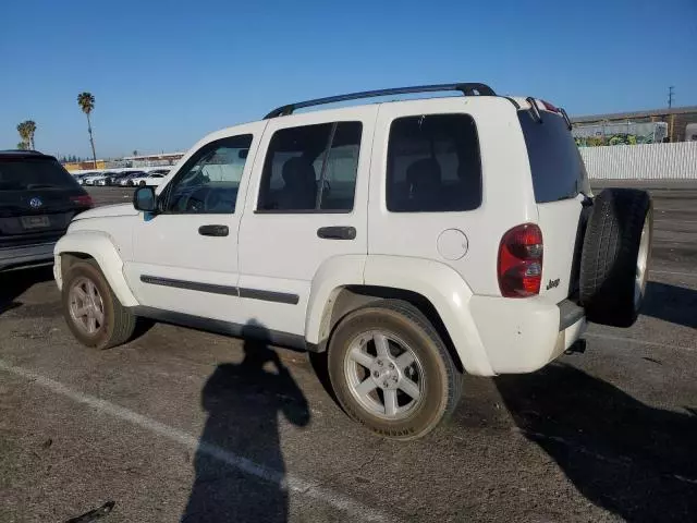
[[[697,521],[697,417],[646,405],[563,364],[496,378],[521,431],[626,521]]]

